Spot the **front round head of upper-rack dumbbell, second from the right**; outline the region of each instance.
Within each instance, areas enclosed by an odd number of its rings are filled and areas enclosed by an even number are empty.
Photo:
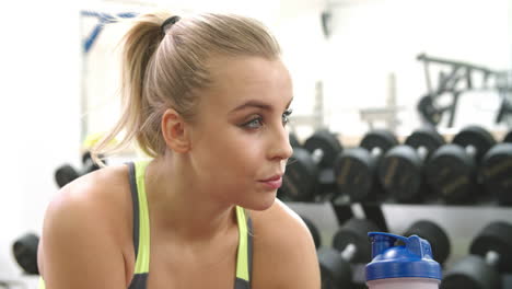
[[[475,161],[456,144],[444,144],[427,162],[424,176],[435,195],[447,203],[466,203],[476,194]]]

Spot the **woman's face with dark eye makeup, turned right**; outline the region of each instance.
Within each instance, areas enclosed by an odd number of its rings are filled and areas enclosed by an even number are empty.
[[[286,129],[290,74],[281,60],[257,57],[222,58],[212,70],[214,84],[190,125],[198,181],[223,201],[269,208],[292,154]]]

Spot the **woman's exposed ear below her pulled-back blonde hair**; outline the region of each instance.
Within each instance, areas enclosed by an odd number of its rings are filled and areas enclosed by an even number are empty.
[[[176,152],[187,152],[190,140],[183,117],[173,108],[167,108],[162,115],[162,135],[167,148]]]

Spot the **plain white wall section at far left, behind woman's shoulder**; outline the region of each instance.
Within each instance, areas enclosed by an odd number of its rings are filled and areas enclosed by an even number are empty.
[[[0,18],[0,279],[20,274],[15,238],[40,231],[54,169],[78,161],[78,8],[10,1]]]

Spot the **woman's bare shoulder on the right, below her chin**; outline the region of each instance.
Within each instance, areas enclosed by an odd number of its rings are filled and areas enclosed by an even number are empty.
[[[251,216],[253,288],[319,289],[315,245],[302,219],[279,199],[268,210],[251,211]]]

